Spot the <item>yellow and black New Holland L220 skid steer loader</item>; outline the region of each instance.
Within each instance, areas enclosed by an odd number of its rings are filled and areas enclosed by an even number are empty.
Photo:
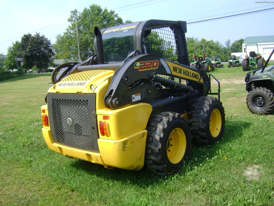
[[[48,147],[105,168],[178,171],[192,141],[211,144],[225,114],[213,76],[189,66],[186,22],[95,27],[94,55],[59,65],[42,106]],[[209,94],[218,97],[210,97]]]

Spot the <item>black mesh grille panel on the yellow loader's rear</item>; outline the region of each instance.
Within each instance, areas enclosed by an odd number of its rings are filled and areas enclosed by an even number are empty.
[[[98,151],[95,94],[49,93],[48,97],[54,142]]]

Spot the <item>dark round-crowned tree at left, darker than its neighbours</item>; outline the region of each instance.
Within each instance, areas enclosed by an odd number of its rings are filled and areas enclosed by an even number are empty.
[[[36,33],[34,36],[24,34],[18,48],[18,56],[23,57],[25,69],[33,67],[46,69],[50,59],[54,56],[51,42],[44,35]]]

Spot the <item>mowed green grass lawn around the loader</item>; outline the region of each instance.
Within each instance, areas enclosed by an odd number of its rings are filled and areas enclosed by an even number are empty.
[[[273,115],[249,112],[241,67],[210,73],[221,82],[224,138],[194,145],[190,161],[168,177],[49,150],[40,107],[50,76],[0,82],[0,205],[273,205]]]

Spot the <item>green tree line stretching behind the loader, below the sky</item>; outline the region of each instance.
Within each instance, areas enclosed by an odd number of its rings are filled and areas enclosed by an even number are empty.
[[[55,59],[65,59],[73,61],[86,60],[93,55],[94,50],[94,27],[107,28],[117,25],[130,23],[123,21],[118,14],[112,10],[102,9],[98,5],[91,5],[85,8],[83,12],[74,10],[71,12],[68,22],[70,26],[66,28],[63,34],[56,36],[56,42],[51,44],[50,40],[40,33],[24,34],[21,41],[16,41],[8,48],[7,55],[0,54],[0,72],[4,70],[13,70],[17,68],[18,62],[15,58],[23,58],[22,67],[17,71],[24,73],[29,69],[47,69],[53,65]],[[198,39],[187,37],[187,49],[190,62],[194,54],[194,46],[198,43],[205,45],[208,57],[218,56],[223,62],[230,58],[232,52],[242,52],[242,42],[239,39],[231,44],[228,39],[225,46],[219,41]],[[202,55],[202,46],[196,48],[196,55]]]

